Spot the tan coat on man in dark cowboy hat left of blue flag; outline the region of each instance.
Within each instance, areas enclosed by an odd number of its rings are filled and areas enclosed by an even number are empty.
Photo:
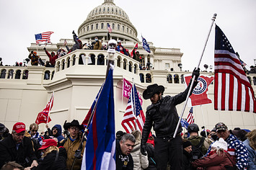
[[[64,143],[63,147],[66,148],[66,153],[67,153],[67,159],[66,159],[66,168],[67,169],[71,169],[72,167],[72,164],[73,164],[73,161],[74,161],[74,158],[75,158],[75,151],[79,148],[79,145],[80,145],[80,141],[81,140],[74,140],[74,142],[72,142],[69,138],[66,140],[66,142]],[[87,142],[84,141],[83,142],[83,150],[81,151],[81,155],[84,154],[84,147],[85,147],[85,144]],[[76,169],[81,169],[81,159],[77,159],[76,158],[76,162],[74,164],[74,168],[73,170],[76,170]]]

